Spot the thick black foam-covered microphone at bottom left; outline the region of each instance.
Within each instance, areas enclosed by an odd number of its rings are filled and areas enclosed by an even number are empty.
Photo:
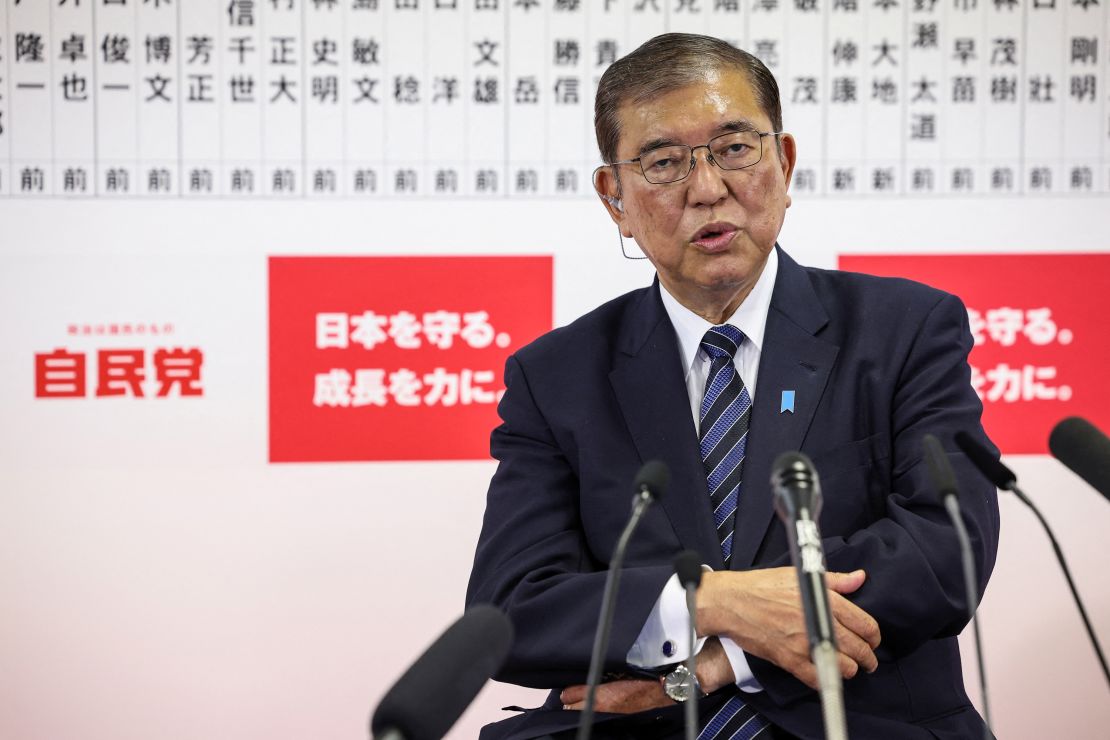
[[[397,679],[374,710],[377,740],[440,740],[497,672],[513,625],[495,607],[468,609]]]

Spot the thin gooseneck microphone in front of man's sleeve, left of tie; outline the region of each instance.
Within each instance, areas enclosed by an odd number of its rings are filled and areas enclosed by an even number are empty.
[[[625,550],[628,549],[628,541],[632,533],[643,518],[644,513],[652,503],[663,496],[670,483],[670,470],[666,463],[660,460],[648,460],[636,474],[636,494],[632,499],[632,516],[628,524],[620,533],[620,539],[613,550],[613,559],[609,560],[609,569],[605,575],[605,591],[602,596],[602,614],[597,619],[597,632],[594,633],[594,650],[589,656],[589,675],[586,679],[586,701],[582,708],[582,717],[578,720],[577,740],[588,740],[594,724],[594,702],[597,695],[597,685],[602,680],[602,662],[605,659],[605,651],[609,647],[609,632],[613,631],[613,611],[617,601],[617,589],[620,588],[620,566],[624,562]]]

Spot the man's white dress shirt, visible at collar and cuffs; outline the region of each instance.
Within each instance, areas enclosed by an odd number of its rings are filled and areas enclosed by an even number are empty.
[[[775,290],[775,277],[778,275],[778,253],[771,250],[763,274],[756,281],[751,293],[725,322],[744,332],[746,341],[733,358],[736,371],[744,379],[744,385],[756,398],[756,381],[759,375],[759,355],[764,345],[764,333],[767,328],[767,313],[770,311],[770,296]],[[690,414],[694,427],[700,425],[702,396],[705,393],[705,381],[709,374],[709,355],[702,349],[702,337],[713,326],[667,292],[659,284],[663,306],[670,317],[670,323],[678,335],[678,346],[683,359],[686,379],[686,394],[689,396]],[[679,491],[682,493],[682,491]],[[743,493],[741,493],[743,495]],[[708,566],[704,566],[708,567]],[[706,638],[700,638],[694,650],[700,651]],[[748,667],[748,659],[733,640],[722,637],[720,645],[725,648],[728,662],[736,676],[736,685],[744,691],[763,691]],[[689,656],[689,621],[686,610],[686,592],[678,582],[678,576],[672,576],[663,587],[655,608],[648,615],[647,621],[628,650],[626,660],[630,666],[639,668],[658,668],[686,660]]]

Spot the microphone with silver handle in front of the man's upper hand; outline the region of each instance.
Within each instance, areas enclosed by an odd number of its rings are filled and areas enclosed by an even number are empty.
[[[809,650],[817,667],[825,737],[847,740],[844,685],[837,661],[836,635],[825,586],[825,550],[817,528],[821,509],[821,484],[813,462],[801,453],[783,453],[771,466],[770,485],[775,510],[786,526],[790,560],[798,571],[798,590],[806,617]]]

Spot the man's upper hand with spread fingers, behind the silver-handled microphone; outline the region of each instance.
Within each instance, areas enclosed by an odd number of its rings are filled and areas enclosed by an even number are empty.
[[[875,657],[880,639],[878,622],[841,596],[856,591],[865,579],[862,570],[825,576],[845,678],[851,678],[860,668],[874,671],[879,665]],[[699,635],[729,637],[746,652],[817,688],[817,668],[809,657],[794,568],[706,572],[697,592],[697,626]]]

